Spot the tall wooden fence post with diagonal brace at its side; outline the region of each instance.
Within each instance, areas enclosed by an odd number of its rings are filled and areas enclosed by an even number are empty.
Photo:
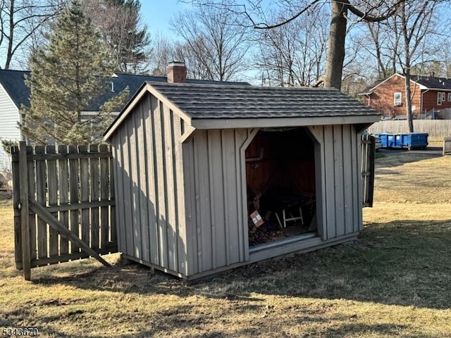
[[[27,144],[19,142],[20,225],[22,232],[23,277],[31,280],[30,222],[28,220]]]

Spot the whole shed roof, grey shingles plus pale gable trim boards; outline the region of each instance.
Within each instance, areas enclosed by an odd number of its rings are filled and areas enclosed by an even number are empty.
[[[269,125],[275,127],[299,125],[300,118],[304,119],[302,125],[373,123],[380,119],[377,111],[333,88],[147,82],[106,130],[106,139],[144,92],[154,94],[199,129],[247,127],[247,124],[262,127],[268,120],[273,120]]]

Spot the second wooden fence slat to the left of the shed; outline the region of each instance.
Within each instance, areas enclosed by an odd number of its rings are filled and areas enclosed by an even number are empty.
[[[99,146],[91,144],[90,152],[98,152]],[[91,178],[91,201],[99,201],[99,158],[91,158],[89,160],[90,178]],[[99,208],[91,208],[91,247],[99,248]]]

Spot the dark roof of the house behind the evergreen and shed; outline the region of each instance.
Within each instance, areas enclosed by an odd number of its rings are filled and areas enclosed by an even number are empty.
[[[13,100],[14,104],[18,108],[23,104],[24,106],[30,106],[30,88],[25,84],[25,76],[30,76],[30,71],[25,70],[0,70],[0,84],[3,85],[8,95]],[[167,82],[167,77],[149,76],[149,75],[130,75],[117,73],[111,77],[111,92],[99,96],[94,102],[92,102],[86,111],[99,111],[100,106],[106,101],[117,95],[125,87],[129,87],[130,96],[133,96],[135,92],[146,81],[152,82]],[[201,84],[240,84],[250,85],[247,82],[223,82],[223,81],[209,81],[209,80],[192,80],[187,79],[188,83],[201,83]],[[120,107],[121,110],[123,107]]]

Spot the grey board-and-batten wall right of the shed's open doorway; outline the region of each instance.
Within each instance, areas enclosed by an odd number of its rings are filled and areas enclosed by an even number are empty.
[[[362,230],[361,134],[354,125],[309,127],[316,139],[316,216],[321,239]]]

